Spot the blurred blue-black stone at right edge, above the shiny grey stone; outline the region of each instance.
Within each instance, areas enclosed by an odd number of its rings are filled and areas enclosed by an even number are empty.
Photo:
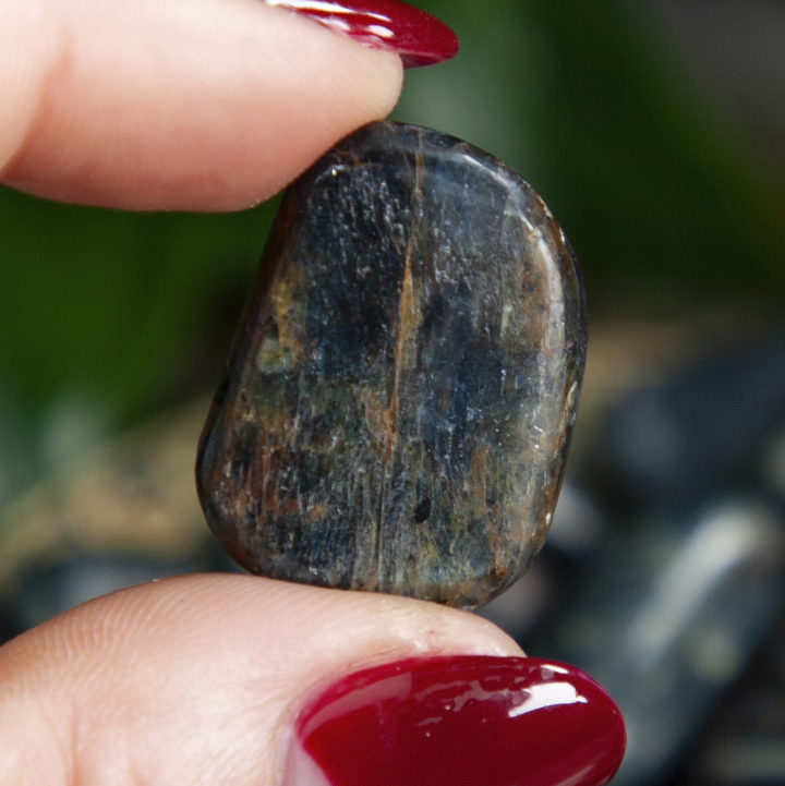
[[[777,427],[785,427],[782,329],[632,392],[607,413],[597,451],[606,482],[631,509],[678,506],[760,486]]]

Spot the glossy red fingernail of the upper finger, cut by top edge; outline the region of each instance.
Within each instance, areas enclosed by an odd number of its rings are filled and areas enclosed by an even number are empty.
[[[397,52],[409,69],[449,60],[458,51],[458,39],[447,25],[399,0],[265,2],[304,14],[374,49]]]

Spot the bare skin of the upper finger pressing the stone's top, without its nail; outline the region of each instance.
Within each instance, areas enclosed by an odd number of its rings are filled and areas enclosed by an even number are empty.
[[[249,207],[386,116],[400,59],[259,0],[0,0],[0,181]]]

